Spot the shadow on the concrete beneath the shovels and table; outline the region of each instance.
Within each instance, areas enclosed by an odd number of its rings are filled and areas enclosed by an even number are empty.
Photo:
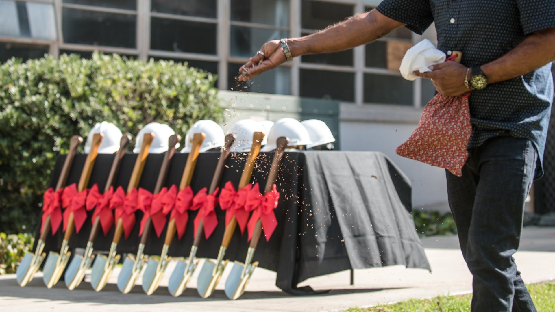
[[[208,299],[199,297],[195,288],[186,289],[183,295],[174,298],[168,293],[166,287],[161,286],[154,294],[147,296],[144,294],[140,285],[130,291],[129,294],[122,294],[119,292],[117,285],[107,284],[102,291],[95,292],[90,283],[83,281],[74,290],[65,288],[65,283],[60,280],[58,284],[54,285],[52,289],[47,289],[44,286],[42,278],[33,279],[26,287],[22,288],[17,284],[15,275],[13,278],[0,279],[0,289],[2,289],[1,296],[25,298],[25,299],[43,299],[51,301],[70,301],[73,302],[88,302],[93,304],[158,304],[158,303],[172,303],[172,302],[198,302],[198,301],[229,301],[225,296],[223,290],[215,290]],[[315,296],[330,296],[340,295],[346,293],[371,293],[374,291],[385,290],[385,288],[367,288],[367,289],[334,289],[327,293],[306,295],[307,297],[314,298]],[[245,291],[245,293],[238,300],[245,299],[274,299],[286,298],[291,295],[283,291]]]

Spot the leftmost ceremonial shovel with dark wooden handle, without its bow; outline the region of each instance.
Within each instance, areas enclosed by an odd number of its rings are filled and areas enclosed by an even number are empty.
[[[77,153],[77,148],[83,142],[83,139],[79,137],[79,135],[74,135],[69,143],[69,153],[65,156],[64,165],[62,167],[62,173],[60,173],[60,177],[58,178],[58,184],[56,184],[56,192],[62,189],[65,185],[65,181],[68,179],[69,169],[73,163],[73,158],[75,158],[75,153]],[[35,249],[34,254],[27,252],[23,259],[21,259],[21,263],[16,271],[16,280],[19,286],[25,286],[33,279],[35,273],[37,273],[38,269],[41,267],[42,260],[44,260],[44,254],[42,250],[44,249],[44,241],[48,236],[48,232],[50,231],[50,216],[44,220],[44,224],[42,226],[41,237],[37,241],[37,248]]]

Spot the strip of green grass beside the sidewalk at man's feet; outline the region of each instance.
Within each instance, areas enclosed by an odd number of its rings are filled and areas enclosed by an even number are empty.
[[[527,286],[538,311],[555,311],[555,281]],[[431,299],[411,299],[372,308],[350,308],[345,312],[459,312],[470,311],[472,295],[437,296]]]

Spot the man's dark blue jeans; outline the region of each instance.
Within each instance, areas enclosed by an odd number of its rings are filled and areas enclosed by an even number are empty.
[[[472,280],[472,311],[536,311],[512,255],[522,233],[537,152],[527,139],[491,138],[447,171],[449,205]]]

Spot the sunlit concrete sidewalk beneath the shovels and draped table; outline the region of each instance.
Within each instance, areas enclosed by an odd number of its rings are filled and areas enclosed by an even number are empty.
[[[239,299],[226,298],[220,283],[209,299],[196,294],[196,278],[179,298],[168,294],[168,274],[160,288],[151,296],[135,286],[132,293],[120,294],[115,286],[117,272],[100,293],[89,283],[78,289],[65,289],[63,280],[47,289],[42,275],[37,275],[25,288],[17,285],[15,276],[0,276],[0,310],[2,311],[334,311],[354,306],[369,306],[410,298],[429,298],[442,294],[468,293],[472,276],[458,250],[456,236],[435,236],[422,240],[432,273],[403,266],[387,266],[355,271],[355,285],[349,285],[349,271],[309,279],[299,286],[310,285],[329,293],[311,296],[291,296],[276,286],[275,273],[257,268],[247,291]],[[555,279],[555,228],[524,228],[521,250],[515,255],[526,283]],[[170,264],[174,265],[174,264]],[[173,268],[169,267],[167,272]],[[227,274],[228,272],[226,272]],[[225,275],[224,275],[225,279]],[[224,280],[223,279],[223,280]],[[88,276],[85,279],[88,281]],[[554,294],[555,295],[555,294]]]

